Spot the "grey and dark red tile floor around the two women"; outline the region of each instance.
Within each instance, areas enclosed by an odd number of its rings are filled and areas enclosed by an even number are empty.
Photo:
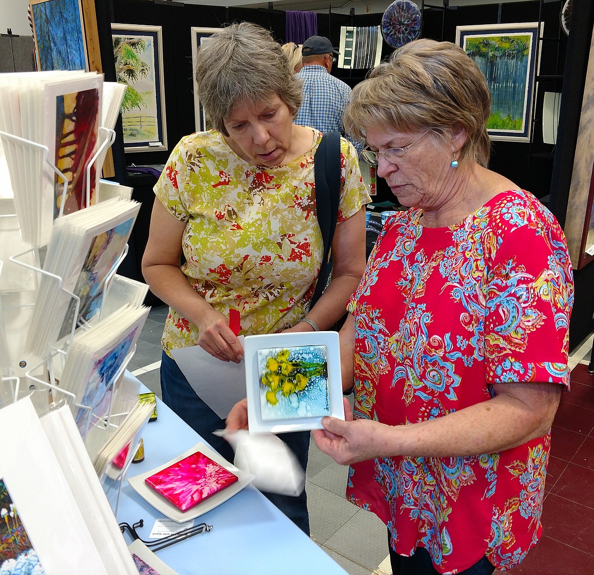
[[[128,369],[160,397],[160,337],[168,313],[149,313]],[[570,356],[571,393],[555,417],[546,482],[543,535],[510,575],[594,573],[594,375],[587,371],[592,336]],[[386,527],[344,499],[347,468],[309,449],[306,489],[311,537],[349,575],[390,575]]]

